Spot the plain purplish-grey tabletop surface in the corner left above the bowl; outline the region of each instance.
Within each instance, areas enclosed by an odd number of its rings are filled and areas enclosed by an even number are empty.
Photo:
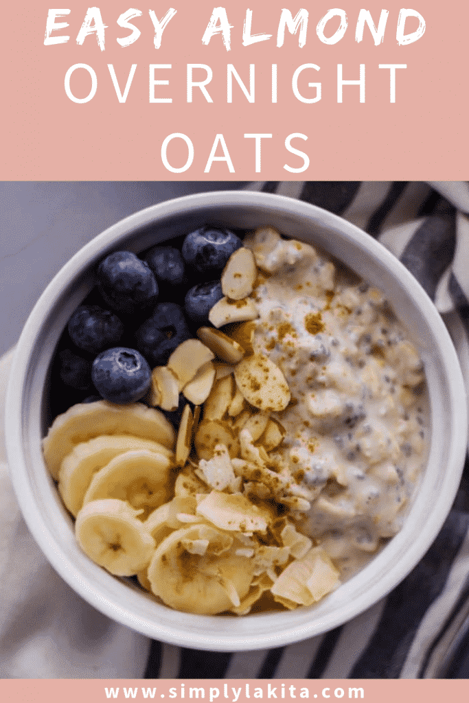
[[[0,354],[18,341],[53,276],[97,234],[143,207],[216,188],[214,181],[0,181]]]

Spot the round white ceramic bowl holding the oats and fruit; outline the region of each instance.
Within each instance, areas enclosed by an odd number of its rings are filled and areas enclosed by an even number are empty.
[[[188,615],[159,605],[82,553],[41,456],[49,365],[70,314],[91,288],[96,263],[113,250],[139,252],[207,223],[245,229],[270,224],[285,235],[319,245],[385,292],[425,362],[430,455],[404,528],[365,569],[315,607],[236,618]],[[383,598],[416,565],[442,526],[467,446],[465,392],[456,352],[437,310],[413,276],[378,242],[340,217],[292,198],[243,191],[190,195],[149,207],[110,227],[75,254],[25,325],[13,361],[7,408],[8,460],[18,501],[57,572],[109,617],[152,638],[206,650],[292,643],[328,631]]]

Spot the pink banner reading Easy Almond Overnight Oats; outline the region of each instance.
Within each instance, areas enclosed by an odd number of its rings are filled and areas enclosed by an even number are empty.
[[[467,176],[468,4],[63,4],[4,8],[2,179]]]

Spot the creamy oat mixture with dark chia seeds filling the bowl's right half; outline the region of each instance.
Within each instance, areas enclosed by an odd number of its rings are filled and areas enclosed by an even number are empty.
[[[311,506],[293,510],[299,529],[345,579],[399,531],[425,464],[423,364],[380,290],[272,230],[244,244],[264,273],[252,349],[292,394],[271,415],[286,431],[271,458]]]

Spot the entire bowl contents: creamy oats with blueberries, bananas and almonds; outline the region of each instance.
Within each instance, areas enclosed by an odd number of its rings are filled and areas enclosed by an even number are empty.
[[[168,271],[182,305],[159,302]],[[397,534],[428,405],[380,290],[270,227],[117,252],[97,279],[56,357],[98,394],[56,413],[44,458],[98,565],[176,610],[243,615],[318,602]]]

